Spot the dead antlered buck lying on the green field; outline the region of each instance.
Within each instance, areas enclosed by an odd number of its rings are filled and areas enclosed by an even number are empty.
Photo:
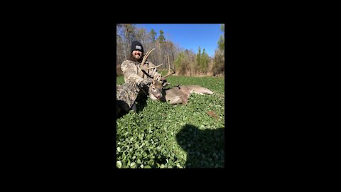
[[[148,57],[148,55],[153,50],[154,49],[148,50],[148,52],[146,53],[146,55],[142,61],[141,66],[143,66],[144,62],[146,61],[146,58]],[[161,65],[151,67],[151,68],[158,68]],[[141,69],[146,71],[146,70],[151,69],[151,68],[141,68]],[[173,72],[171,72],[171,69],[173,70]],[[178,86],[172,87],[170,89],[163,89],[163,87],[165,87],[166,85],[169,85],[171,83],[169,83],[169,82],[162,83],[161,80],[162,79],[166,80],[166,78],[168,78],[168,76],[173,75],[174,73],[175,73],[175,70],[173,68],[171,68],[171,65],[169,63],[169,57],[168,57],[168,74],[163,76],[163,77],[162,77],[162,75],[154,76],[152,79],[151,85],[149,85],[148,94],[149,94],[149,97],[151,98],[151,100],[159,100],[161,102],[170,102],[173,105],[175,105],[175,104],[187,105],[188,98],[190,97],[191,93],[197,93],[200,95],[203,95],[203,94],[212,95],[212,94],[214,94],[214,92],[212,92],[211,90],[209,90],[205,87],[201,87],[199,85],[178,85]],[[148,75],[148,77],[150,77],[150,75]]]

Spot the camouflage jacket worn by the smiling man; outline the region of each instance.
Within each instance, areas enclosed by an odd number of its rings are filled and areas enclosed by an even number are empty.
[[[124,75],[124,82],[134,82],[137,85],[140,85],[141,81],[148,79],[148,76],[141,70],[140,65],[141,63],[137,63],[131,60],[124,60],[124,62],[121,64],[121,70]],[[148,61],[144,63],[144,68],[150,68],[154,66],[155,65],[153,63]],[[156,68],[146,70],[146,73],[151,75],[151,78],[158,74]]]

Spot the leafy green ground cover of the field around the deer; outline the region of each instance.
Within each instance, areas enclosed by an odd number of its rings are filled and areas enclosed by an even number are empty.
[[[224,94],[224,78],[171,76],[168,82]],[[118,168],[224,167],[224,97],[193,94],[185,106],[148,98],[137,107],[117,119]]]

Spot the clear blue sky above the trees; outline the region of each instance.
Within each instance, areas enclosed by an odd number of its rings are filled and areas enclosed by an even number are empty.
[[[215,55],[217,42],[224,33],[220,31],[220,26],[221,24],[136,24],[136,28],[146,28],[147,33],[153,28],[157,37],[162,30],[166,40],[171,40],[184,50],[197,53],[199,46],[201,51],[205,48],[210,57]]]

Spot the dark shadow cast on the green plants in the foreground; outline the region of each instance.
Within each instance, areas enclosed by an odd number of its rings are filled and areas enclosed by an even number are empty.
[[[176,139],[187,152],[185,168],[224,168],[224,127],[202,130],[185,124]]]

